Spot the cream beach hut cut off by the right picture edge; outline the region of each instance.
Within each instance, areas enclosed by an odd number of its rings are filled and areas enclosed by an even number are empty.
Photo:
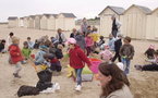
[[[158,39],[158,8],[147,16],[146,39]]]

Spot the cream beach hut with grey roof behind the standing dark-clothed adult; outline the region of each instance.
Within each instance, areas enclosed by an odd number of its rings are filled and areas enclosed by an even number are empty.
[[[112,20],[111,15],[116,14],[117,19],[120,21],[121,15],[123,14],[124,9],[120,7],[111,7],[108,5],[100,13],[100,34],[105,37],[108,37],[109,34],[111,34],[111,27],[112,27]]]

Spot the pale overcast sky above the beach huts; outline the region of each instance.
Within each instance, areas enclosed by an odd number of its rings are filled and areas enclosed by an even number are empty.
[[[77,19],[95,17],[107,7],[127,9],[132,4],[158,8],[158,0],[0,0],[0,22],[9,16],[27,16],[44,13],[74,13]]]

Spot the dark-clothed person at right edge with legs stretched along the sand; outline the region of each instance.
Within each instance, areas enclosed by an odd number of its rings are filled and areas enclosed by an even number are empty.
[[[146,65],[134,65],[139,71],[158,71],[158,50],[154,52],[154,60],[147,60],[151,64]]]

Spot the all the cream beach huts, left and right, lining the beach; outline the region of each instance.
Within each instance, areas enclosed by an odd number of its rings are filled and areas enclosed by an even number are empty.
[[[111,33],[111,15],[113,14],[121,22],[120,29],[124,36],[135,39],[158,39],[158,8],[151,11],[146,7],[133,4],[125,10],[120,7],[108,5],[99,13],[100,19],[89,25],[96,26],[99,34],[108,37]],[[76,24],[75,17],[73,13],[31,15],[20,20],[9,17],[9,27],[71,30],[74,27],[80,28],[81,24]]]

